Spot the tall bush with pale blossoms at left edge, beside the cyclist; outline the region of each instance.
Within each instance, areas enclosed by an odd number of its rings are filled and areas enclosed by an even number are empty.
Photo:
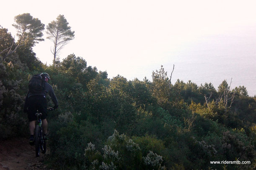
[[[28,134],[22,113],[26,72],[27,67],[17,55],[10,55],[5,61],[0,56],[0,140]]]

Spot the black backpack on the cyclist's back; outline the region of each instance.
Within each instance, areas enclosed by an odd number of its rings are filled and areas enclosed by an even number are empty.
[[[28,84],[28,89],[30,93],[40,94],[44,93],[45,81],[41,75],[33,75]]]

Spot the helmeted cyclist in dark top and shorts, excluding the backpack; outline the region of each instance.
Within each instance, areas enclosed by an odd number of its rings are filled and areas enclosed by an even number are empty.
[[[34,92],[32,93],[28,90],[26,95],[25,104],[24,104],[24,112],[28,113],[28,121],[29,121],[29,131],[30,131],[30,139],[29,144],[34,144],[34,129],[36,126],[36,111],[38,110],[39,113],[42,113],[42,125],[44,130],[44,141],[47,141],[47,100],[46,94],[48,93],[52,98],[54,103],[53,109],[58,108],[58,100],[56,95],[54,94],[53,88],[49,85],[48,80],[50,80],[50,76],[47,73],[41,73],[40,76],[42,77],[42,81],[44,82],[44,90],[41,92]],[[39,76],[39,77],[40,77]]]

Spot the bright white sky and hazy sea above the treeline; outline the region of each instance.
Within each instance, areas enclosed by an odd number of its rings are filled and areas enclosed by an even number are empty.
[[[39,3],[40,2],[40,3]],[[233,88],[245,85],[256,94],[255,0],[13,0],[1,2],[0,25],[16,35],[13,18],[30,13],[45,28],[59,14],[75,31],[60,59],[74,53],[88,65],[151,80],[163,65],[172,82],[178,78],[215,88],[233,77]],[[52,42],[34,47],[36,56],[52,63]],[[222,60],[223,59],[223,60]]]

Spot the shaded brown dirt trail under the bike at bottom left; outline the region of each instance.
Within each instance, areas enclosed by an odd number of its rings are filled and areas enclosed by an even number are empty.
[[[36,157],[35,147],[24,138],[0,142],[0,170],[52,170],[43,163],[48,153]]]

